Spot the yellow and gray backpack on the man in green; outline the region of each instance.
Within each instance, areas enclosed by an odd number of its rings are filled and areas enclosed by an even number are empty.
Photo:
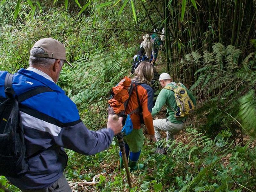
[[[164,87],[164,89],[174,92],[174,97],[178,108],[177,111],[175,111],[173,108],[172,110],[174,111],[174,116],[176,118],[186,117],[195,110],[195,106],[192,100],[189,98],[187,90],[181,85],[181,83],[178,83],[174,85],[174,87],[171,85]]]

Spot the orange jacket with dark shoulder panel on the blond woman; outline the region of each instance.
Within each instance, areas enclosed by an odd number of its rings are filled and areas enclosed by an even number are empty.
[[[154,135],[155,131],[153,126],[153,118],[151,115],[151,111],[153,108],[154,91],[147,84],[137,84],[137,89],[145,125],[148,129],[148,133],[150,135]],[[133,129],[140,129],[139,104],[137,100],[136,87],[135,84],[133,84],[132,94],[127,104],[125,113],[129,114],[137,108],[138,110],[131,114]]]

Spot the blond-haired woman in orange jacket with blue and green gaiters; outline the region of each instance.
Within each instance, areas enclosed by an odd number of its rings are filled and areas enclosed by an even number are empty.
[[[154,91],[150,87],[150,80],[153,78],[153,75],[153,65],[149,62],[142,61],[135,70],[133,89],[125,110],[126,114],[131,114],[133,124],[132,132],[124,136],[125,151],[127,158],[129,156],[129,167],[131,167],[131,171],[144,167],[143,164],[138,164],[144,143],[142,123],[145,122],[151,140],[156,141],[153,118],[151,116]],[[123,168],[122,157],[120,157],[120,168]]]

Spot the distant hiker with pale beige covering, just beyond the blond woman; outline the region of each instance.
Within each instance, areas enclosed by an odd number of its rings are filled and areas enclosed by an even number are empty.
[[[153,43],[154,41],[148,34],[143,36],[143,41],[140,44],[140,51],[138,52],[140,60],[149,61],[151,59],[151,54],[154,55]]]

